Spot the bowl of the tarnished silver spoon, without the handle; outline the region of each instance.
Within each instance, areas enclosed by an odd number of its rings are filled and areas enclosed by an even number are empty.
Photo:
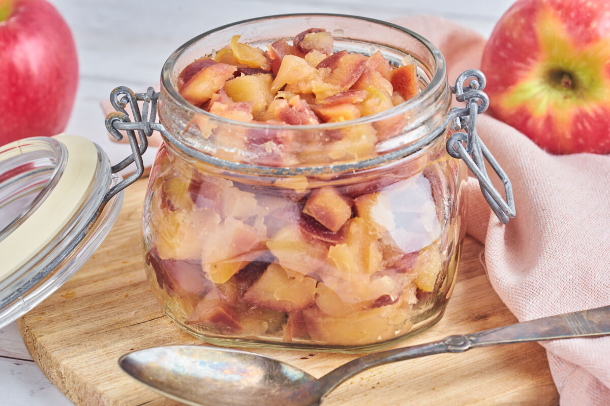
[[[119,359],[149,389],[188,405],[317,405],[316,379],[295,366],[226,348],[178,345],[130,352]]]

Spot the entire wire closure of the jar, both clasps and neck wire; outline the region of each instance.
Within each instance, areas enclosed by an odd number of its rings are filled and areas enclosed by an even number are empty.
[[[464,86],[467,79],[470,79],[470,82],[468,83],[468,86]],[[397,159],[416,152],[425,147],[429,142],[432,142],[434,139],[441,136],[445,129],[450,126],[451,130],[458,132],[453,133],[447,141],[447,152],[454,158],[462,159],[464,161],[468,169],[470,169],[473,175],[479,180],[481,192],[483,193],[485,200],[487,200],[487,203],[489,203],[489,206],[492,208],[495,215],[498,216],[498,219],[506,224],[509,219],[515,217],[515,203],[512,195],[511,181],[476,132],[476,116],[486,111],[487,107],[489,107],[489,97],[483,92],[485,84],[486,79],[483,72],[478,71],[477,69],[469,69],[468,71],[463,72],[459,75],[458,80],[456,80],[456,85],[450,86],[450,89],[451,93],[456,95],[456,100],[458,100],[458,102],[465,102],[466,107],[452,108],[447,114],[447,119],[445,119],[439,128],[436,128],[414,144],[407,145],[395,152],[387,154],[388,157],[384,159]],[[155,122],[159,96],[160,93],[155,92],[152,87],[149,87],[146,93],[134,93],[131,89],[120,86],[110,93],[110,102],[112,102],[113,107],[117,111],[113,111],[106,116],[106,128],[117,141],[123,139],[123,135],[119,131],[126,131],[127,138],[129,138],[129,145],[131,145],[132,150],[132,155],[112,167],[112,173],[124,169],[131,163],[135,163],[136,170],[106,193],[103,200],[104,204],[106,204],[113,195],[138,180],[144,173],[142,154],[148,147],[147,137],[152,135],[152,131],[159,131],[183,152],[205,162],[216,165],[220,164],[221,167],[237,170],[250,166],[248,164],[233,163],[215,158],[194,150],[174,138],[162,124]],[[143,102],[142,114],[140,114],[138,101]],[[134,122],[131,122],[125,110],[127,103],[129,103],[131,107]],[[136,131],[137,136],[135,134]],[[487,175],[487,170],[485,169],[485,159],[504,184],[506,201],[504,201],[500,193],[493,187],[489,175]],[[371,159],[370,161],[371,163],[374,163],[377,160],[378,159]],[[334,169],[343,170],[345,169],[344,167],[351,166],[353,166],[353,164],[337,165],[334,166]],[[283,170],[276,167],[264,167],[264,169],[267,170],[268,173],[275,173],[277,171],[278,175],[281,175]]]

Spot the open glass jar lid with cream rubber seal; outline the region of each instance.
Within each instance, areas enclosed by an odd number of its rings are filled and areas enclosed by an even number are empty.
[[[0,147],[0,327],[55,292],[117,219],[123,193],[99,145],[57,135]]]

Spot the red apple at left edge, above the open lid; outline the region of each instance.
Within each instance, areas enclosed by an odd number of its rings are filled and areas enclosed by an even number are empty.
[[[62,132],[78,85],[76,46],[57,10],[44,0],[10,6],[0,22],[0,145]]]

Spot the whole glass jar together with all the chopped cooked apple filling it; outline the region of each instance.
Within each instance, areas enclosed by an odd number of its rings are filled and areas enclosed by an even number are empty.
[[[163,310],[210,343],[369,351],[439,320],[453,289],[464,172],[446,128],[408,149],[447,113],[442,56],[354,48],[333,33],[370,21],[314,20],[194,55],[208,33],[162,75],[163,124],[201,155],[171,139],[157,153],[146,271]]]

